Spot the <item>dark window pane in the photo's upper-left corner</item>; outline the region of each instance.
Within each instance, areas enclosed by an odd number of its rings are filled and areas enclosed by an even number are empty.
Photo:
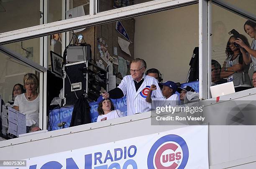
[[[40,0],[0,1],[0,33],[40,25]]]

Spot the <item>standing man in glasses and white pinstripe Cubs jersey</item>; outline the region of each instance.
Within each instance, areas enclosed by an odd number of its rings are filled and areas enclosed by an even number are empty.
[[[151,103],[146,102],[146,97],[151,85],[156,85],[152,97],[163,97],[158,81],[144,74],[146,62],[136,58],[131,61],[131,75],[123,78],[120,85],[115,89],[102,94],[105,99],[119,99],[126,95],[127,115],[151,111]]]

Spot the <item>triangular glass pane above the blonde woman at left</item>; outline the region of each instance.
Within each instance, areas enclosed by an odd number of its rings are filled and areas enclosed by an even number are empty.
[[[40,37],[4,45],[20,56],[40,64]]]

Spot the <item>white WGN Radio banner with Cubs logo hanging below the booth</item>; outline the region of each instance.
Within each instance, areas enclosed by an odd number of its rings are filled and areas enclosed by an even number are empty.
[[[189,126],[25,159],[27,167],[209,169],[208,126]]]

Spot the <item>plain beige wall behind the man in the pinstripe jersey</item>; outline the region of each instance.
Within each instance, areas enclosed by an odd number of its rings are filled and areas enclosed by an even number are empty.
[[[198,4],[135,18],[134,57],[158,69],[164,81],[186,81],[197,46]]]

